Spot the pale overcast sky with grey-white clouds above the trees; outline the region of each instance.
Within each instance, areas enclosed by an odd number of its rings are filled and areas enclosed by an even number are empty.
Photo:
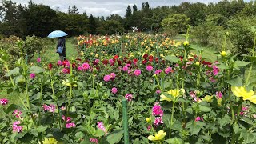
[[[182,2],[218,2],[219,0],[33,0],[34,3],[44,4],[56,10],[59,6],[60,11],[67,12],[68,6],[77,6],[79,13],[86,11],[88,15],[109,16],[110,14],[120,14],[122,17],[126,14],[128,5],[142,7],[142,2],[149,2],[150,7],[173,6]],[[12,0],[12,2],[27,5],[29,0]]]

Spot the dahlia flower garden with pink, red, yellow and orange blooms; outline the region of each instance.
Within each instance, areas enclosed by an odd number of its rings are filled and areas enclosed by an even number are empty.
[[[2,89],[21,102],[0,99],[1,143],[256,141],[254,47],[212,52],[190,45],[189,34],[181,42],[152,34],[75,40],[79,58],[30,65],[21,52],[12,70],[1,49]]]

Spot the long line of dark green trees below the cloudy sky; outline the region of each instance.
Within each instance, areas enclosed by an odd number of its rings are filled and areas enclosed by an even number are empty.
[[[70,36],[79,34],[117,34],[129,32],[137,26],[143,32],[178,31],[182,33],[186,25],[200,26],[209,21],[209,16],[217,15],[214,19],[216,26],[228,27],[230,18],[238,13],[256,14],[255,2],[243,0],[222,0],[217,3],[204,4],[201,2],[182,2],[178,6],[158,6],[151,8],[149,2],[143,2],[142,8],[136,5],[127,6],[126,14],[111,14],[103,16],[88,16],[86,11],[78,12],[76,6],[69,6],[68,12],[53,10],[50,6],[35,4],[30,1],[26,6],[15,2],[2,0],[0,5],[0,34],[5,36],[17,35],[25,38],[27,35],[46,37],[53,30],[66,31]]]

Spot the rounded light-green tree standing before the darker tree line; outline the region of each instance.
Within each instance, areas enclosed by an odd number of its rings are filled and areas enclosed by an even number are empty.
[[[181,33],[186,30],[186,25],[190,21],[185,14],[170,14],[163,19],[161,25],[164,30]]]

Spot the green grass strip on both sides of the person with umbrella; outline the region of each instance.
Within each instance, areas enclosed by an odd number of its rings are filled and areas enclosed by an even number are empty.
[[[56,43],[50,47],[50,49],[46,50],[44,54],[42,54],[42,58],[46,60],[46,62],[57,62],[59,60],[59,56],[56,53]],[[77,58],[78,52],[75,50],[75,45],[72,44],[72,39],[66,39],[66,58]]]

